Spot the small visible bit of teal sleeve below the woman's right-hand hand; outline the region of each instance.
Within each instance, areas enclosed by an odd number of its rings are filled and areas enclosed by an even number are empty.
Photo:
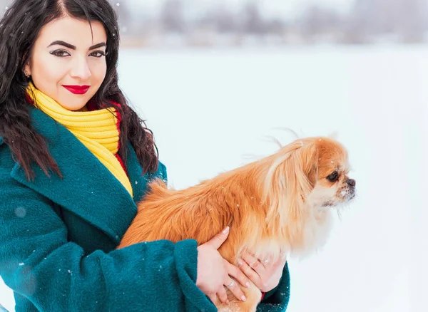
[[[288,301],[290,301],[290,271],[288,271],[288,264],[285,264],[280,284],[272,291],[265,293],[265,297],[257,307],[257,312],[286,311]]]

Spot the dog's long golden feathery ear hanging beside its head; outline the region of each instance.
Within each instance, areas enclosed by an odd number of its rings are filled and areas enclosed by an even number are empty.
[[[317,147],[313,140],[297,140],[282,147],[272,159],[265,180],[264,199],[270,205],[266,221],[272,227],[299,227],[307,197],[317,180]]]

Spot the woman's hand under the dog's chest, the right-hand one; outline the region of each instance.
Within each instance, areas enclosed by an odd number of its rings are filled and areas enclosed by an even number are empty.
[[[264,293],[278,286],[285,262],[287,262],[285,256],[273,263],[270,263],[269,260],[260,261],[249,251],[243,251],[241,259],[238,259],[240,269]]]

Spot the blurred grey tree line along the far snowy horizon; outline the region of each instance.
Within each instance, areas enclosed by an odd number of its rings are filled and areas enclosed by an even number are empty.
[[[155,11],[137,3],[144,0],[109,1],[118,11],[122,37],[141,41],[164,36],[199,38],[206,44],[215,44],[218,36],[235,38],[235,43],[246,36],[279,43],[428,41],[428,0],[354,0],[347,13],[312,4],[292,19],[264,14],[263,2],[257,0],[243,0],[238,9],[227,0],[158,0],[161,6]],[[10,3],[0,0],[4,8]]]

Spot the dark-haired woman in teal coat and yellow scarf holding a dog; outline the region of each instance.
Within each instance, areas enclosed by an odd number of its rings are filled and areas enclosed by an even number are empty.
[[[285,311],[285,261],[226,263],[227,231],[115,250],[166,170],[118,88],[108,1],[16,0],[0,24],[0,274],[16,311],[215,311],[248,279],[260,311]]]

